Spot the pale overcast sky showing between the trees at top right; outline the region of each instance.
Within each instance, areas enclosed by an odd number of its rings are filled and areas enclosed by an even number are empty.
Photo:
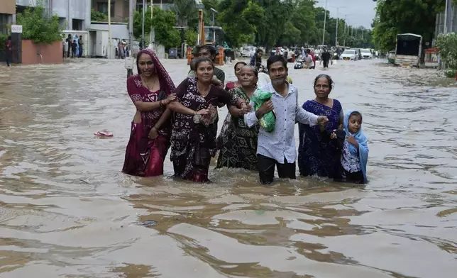
[[[324,7],[325,1],[317,0],[317,6]],[[338,11],[339,18],[344,18],[347,14],[348,24],[365,28],[371,28],[375,18],[375,6],[376,2],[373,0],[327,0],[327,10],[331,17],[336,18],[336,7],[341,7]]]

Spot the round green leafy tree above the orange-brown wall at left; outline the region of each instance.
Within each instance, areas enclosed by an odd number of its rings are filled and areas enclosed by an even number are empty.
[[[23,28],[24,40],[33,40],[33,43],[53,43],[56,40],[62,40],[59,16],[48,16],[41,4],[35,8],[28,7],[23,13],[18,13],[16,22]]]

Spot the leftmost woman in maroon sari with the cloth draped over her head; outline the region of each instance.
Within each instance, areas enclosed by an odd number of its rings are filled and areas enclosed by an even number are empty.
[[[136,114],[122,172],[140,177],[163,174],[163,161],[170,148],[171,111],[167,104],[176,99],[175,84],[152,50],[136,57],[138,74],[127,79],[127,91]]]

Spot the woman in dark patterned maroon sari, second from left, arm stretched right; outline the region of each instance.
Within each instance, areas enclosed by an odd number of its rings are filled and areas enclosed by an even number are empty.
[[[192,182],[209,182],[211,157],[216,154],[216,118],[219,103],[250,111],[243,99],[232,99],[224,89],[211,85],[214,65],[208,58],[197,60],[196,78],[185,79],[176,89],[172,128],[171,160],[175,176]]]

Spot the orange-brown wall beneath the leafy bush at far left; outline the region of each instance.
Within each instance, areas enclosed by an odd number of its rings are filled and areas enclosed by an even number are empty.
[[[41,55],[38,55],[38,52]],[[62,64],[63,47],[62,41],[54,43],[36,44],[31,40],[22,40],[22,63],[25,65],[33,64]]]

